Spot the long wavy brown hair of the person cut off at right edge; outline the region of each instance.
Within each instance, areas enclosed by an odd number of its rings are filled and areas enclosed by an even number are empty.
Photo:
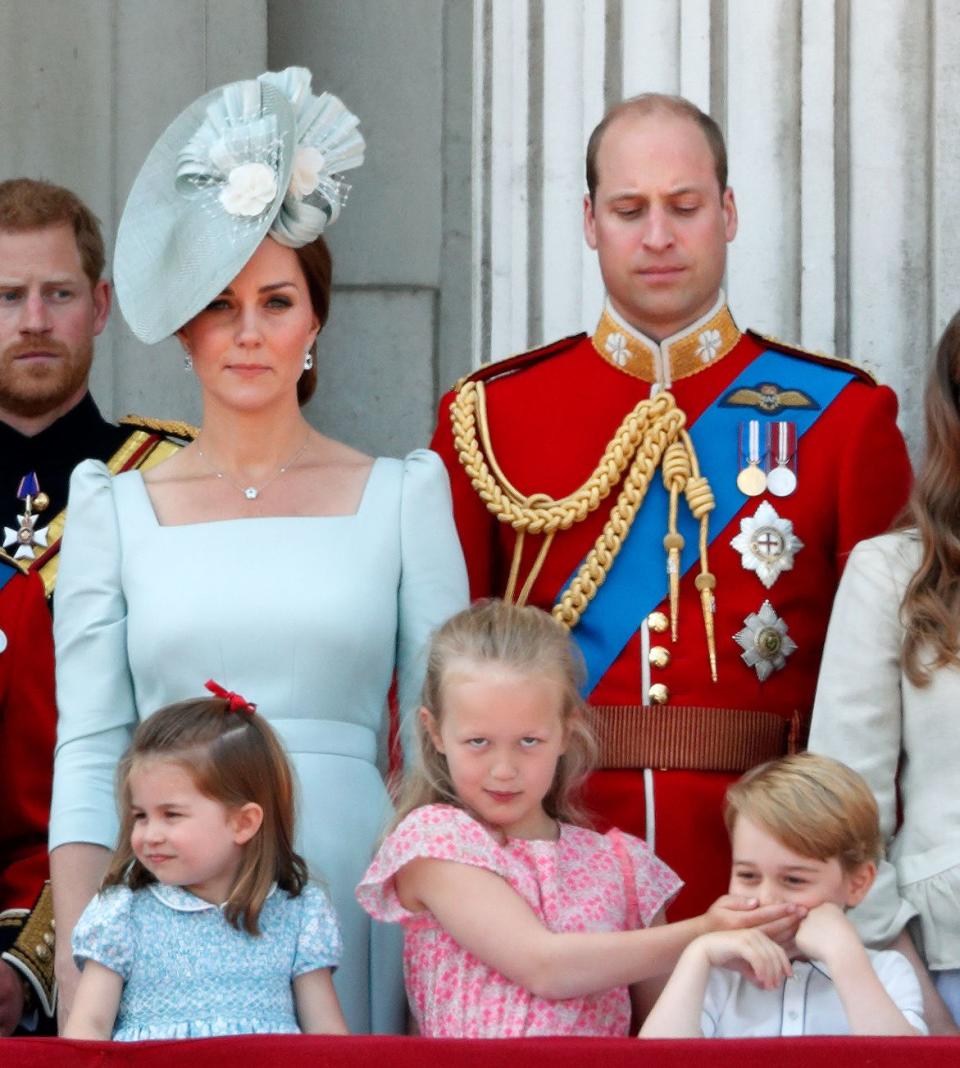
[[[924,393],[926,453],[907,507],[920,563],[900,606],[902,662],[914,686],[960,666],[960,312],[947,324]]]

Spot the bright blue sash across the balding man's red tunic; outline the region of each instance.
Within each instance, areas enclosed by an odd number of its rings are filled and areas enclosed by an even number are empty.
[[[778,382],[784,388],[804,390],[819,407],[789,411],[789,419],[797,426],[799,442],[853,377],[849,371],[767,349],[743,368],[724,395],[735,389],[754,388],[759,382]],[[707,476],[717,499],[717,507],[710,515],[711,541],[750,500],[737,488],[738,424],[746,419],[770,422],[783,418],[784,412],[768,415],[756,409],[723,408],[718,397],[688,428],[699,458],[701,473]],[[670,496],[658,469],[607,581],[572,630],[572,637],[586,661],[584,696],[593,692],[643,621],[667,595],[663,535],[666,533],[668,503]],[[686,540],[680,553],[682,576],[699,561],[699,523],[683,504],[679,508],[677,529]],[[576,575],[575,571],[567,580],[565,590]],[[688,627],[693,625],[703,626],[699,621],[686,622]]]

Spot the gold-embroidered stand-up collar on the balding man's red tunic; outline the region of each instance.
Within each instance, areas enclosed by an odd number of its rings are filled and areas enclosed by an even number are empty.
[[[661,342],[630,326],[608,299],[593,336],[594,348],[608,363],[651,382],[654,392],[668,390],[678,379],[717,363],[739,340],[740,331],[722,290],[706,315]]]

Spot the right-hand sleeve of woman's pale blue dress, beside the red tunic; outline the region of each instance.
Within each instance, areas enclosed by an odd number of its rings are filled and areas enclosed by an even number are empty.
[[[400,569],[397,698],[400,739],[409,755],[427,641],[431,631],[468,604],[467,568],[454,525],[450,482],[440,457],[427,449],[404,460]]]

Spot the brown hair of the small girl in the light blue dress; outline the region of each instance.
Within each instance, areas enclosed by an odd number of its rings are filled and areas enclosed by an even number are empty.
[[[223,909],[238,930],[258,934],[257,921],[271,884],[296,897],[308,880],[306,864],[294,852],[294,780],[277,735],[262,716],[232,712],[221,697],[182,701],[145,719],[116,770],[120,836],[101,889],[140,890],[157,881],[130,846],[130,772],[138,763],[154,758],[179,765],[201,794],[227,807],[253,801],[263,808],[263,823],[243,846]]]

